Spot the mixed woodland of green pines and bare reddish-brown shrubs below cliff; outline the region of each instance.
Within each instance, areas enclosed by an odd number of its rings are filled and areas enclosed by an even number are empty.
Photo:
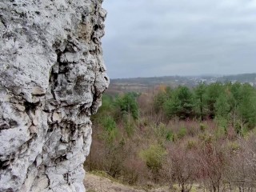
[[[104,94],[86,170],[170,191],[256,191],[256,89],[247,83]]]

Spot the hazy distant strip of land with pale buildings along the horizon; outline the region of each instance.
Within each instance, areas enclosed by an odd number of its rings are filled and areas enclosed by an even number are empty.
[[[254,74],[235,74],[235,75],[198,75],[198,76],[164,76],[152,78],[115,78],[110,80],[108,92],[145,92],[156,86],[165,85],[170,87],[177,86],[198,86],[199,83],[214,82],[241,82],[249,83],[256,87],[256,73]]]

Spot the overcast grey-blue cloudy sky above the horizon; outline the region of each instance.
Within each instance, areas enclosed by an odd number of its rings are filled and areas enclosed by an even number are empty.
[[[256,0],[105,0],[110,78],[256,72]]]

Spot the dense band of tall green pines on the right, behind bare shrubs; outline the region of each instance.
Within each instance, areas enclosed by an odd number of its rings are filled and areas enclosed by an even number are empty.
[[[223,127],[229,123],[238,134],[242,128],[256,125],[256,90],[250,84],[200,84],[193,90],[186,86],[162,88],[154,97],[156,113],[163,111],[165,118],[217,119]]]

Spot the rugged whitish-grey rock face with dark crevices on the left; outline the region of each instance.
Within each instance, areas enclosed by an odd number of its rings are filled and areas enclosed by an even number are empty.
[[[0,0],[0,191],[84,191],[109,84],[102,0]]]

